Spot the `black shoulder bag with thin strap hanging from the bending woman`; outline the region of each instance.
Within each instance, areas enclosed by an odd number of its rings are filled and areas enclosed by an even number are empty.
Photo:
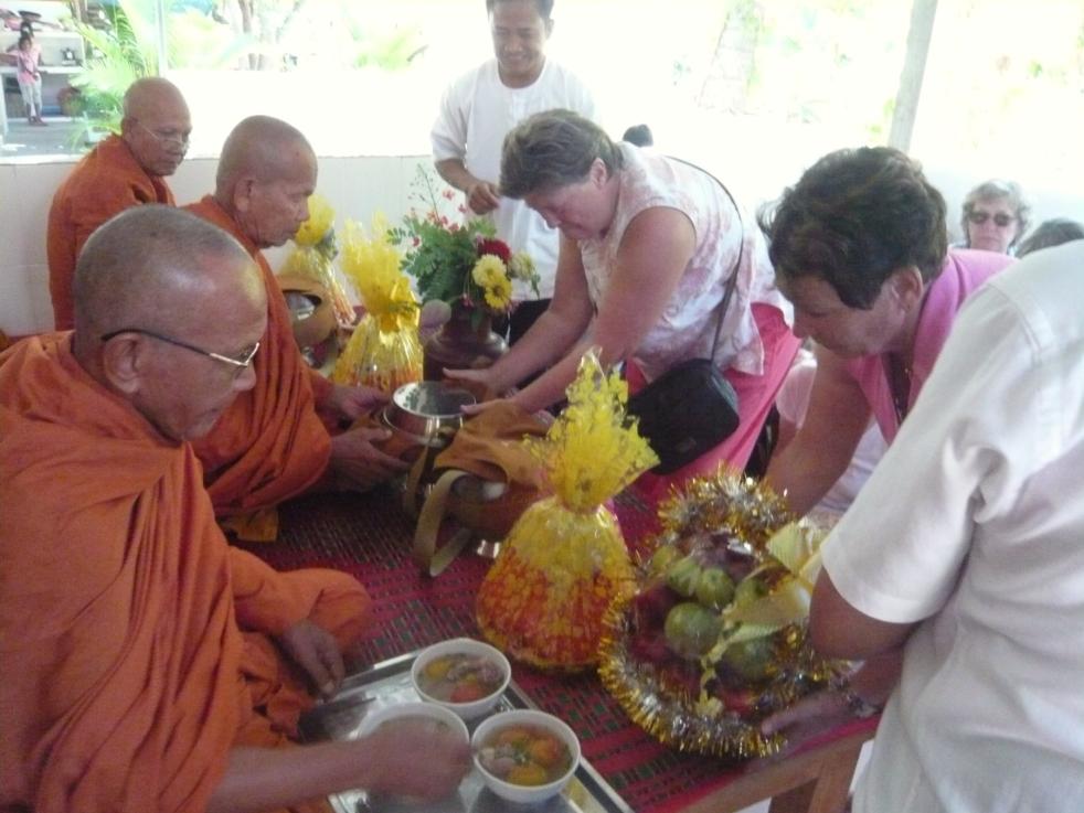
[[[714,180],[726,192],[741,218],[741,210],[730,190],[718,178]],[[711,357],[681,362],[629,396],[627,411],[639,418],[640,435],[647,438],[655,453],[659,456],[659,464],[651,470],[656,474],[669,474],[695,460],[733,435],[741,422],[737,393],[715,364],[715,347],[734,287],[737,285],[744,244],[743,231],[737,261],[719,308]]]

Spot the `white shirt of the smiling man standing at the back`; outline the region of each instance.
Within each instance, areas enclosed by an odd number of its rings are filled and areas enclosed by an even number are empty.
[[[500,180],[504,136],[535,113],[564,108],[586,118],[595,117],[595,103],[584,84],[570,71],[546,58],[542,73],[528,87],[508,87],[500,81],[497,60],[490,60],[456,79],[440,101],[433,125],[433,160],[458,158],[467,171],[483,181]],[[500,206],[486,215],[497,225],[497,236],[514,252],[527,252],[539,271],[542,299],[553,296],[557,268],[556,229],[523,201],[502,197]],[[522,281],[513,281],[512,296],[534,299]]]

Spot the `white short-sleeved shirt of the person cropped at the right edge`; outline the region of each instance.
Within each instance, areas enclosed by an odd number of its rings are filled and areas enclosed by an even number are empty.
[[[823,547],[840,595],[921,622],[854,811],[1084,811],[1084,243],[960,311]]]

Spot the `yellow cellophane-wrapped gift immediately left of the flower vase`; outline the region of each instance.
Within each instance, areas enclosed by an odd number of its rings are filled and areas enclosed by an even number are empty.
[[[339,354],[332,381],[394,393],[422,378],[418,303],[401,270],[402,256],[387,239],[387,224],[373,218],[372,237],[358,223],[343,229],[343,274],[353,285],[365,315]]]

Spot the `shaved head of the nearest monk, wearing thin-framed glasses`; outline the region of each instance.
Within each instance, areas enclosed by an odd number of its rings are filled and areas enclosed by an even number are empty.
[[[253,387],[266,329],[253,258],[188,212],[129,208],[79,254],[75,357],[166,438],[205,435]]]

